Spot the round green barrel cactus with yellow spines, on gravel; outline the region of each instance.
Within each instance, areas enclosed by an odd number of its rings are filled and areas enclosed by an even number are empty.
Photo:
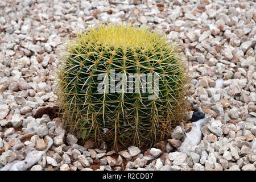
[[[108,24],[65,45],[56,94],[70,133],[141,147],[170,137],[184,121],[187,69],[166,35]]]

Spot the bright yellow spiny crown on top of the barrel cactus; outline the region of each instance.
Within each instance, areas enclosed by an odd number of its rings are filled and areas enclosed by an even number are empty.
[[[126,26],[99,26],[97,30],[91,28],[86,34],[79,34],[76,44],[69,44],[71,51],[77,46],[88,45],[91,48],[122,48],[123,51],[130,49],[153,49],[155,46],[163,46],[166,43],[166,36],[160,36],[158,32],[149,33],[148,28],[135,28],[130,24]]]

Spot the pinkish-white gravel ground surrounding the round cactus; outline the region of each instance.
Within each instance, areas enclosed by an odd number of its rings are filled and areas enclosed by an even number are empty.
[[[255,1],[0,1],[0,168],[26,150],[52,146],[28,170],[224,170],[256,167]],[[151,26],[179,42],[189,60],[191,107],[212,118],[189,155],[177,151],[192,123],[141,151],[81,146],[56,118],[55,51],[97,22]]]

